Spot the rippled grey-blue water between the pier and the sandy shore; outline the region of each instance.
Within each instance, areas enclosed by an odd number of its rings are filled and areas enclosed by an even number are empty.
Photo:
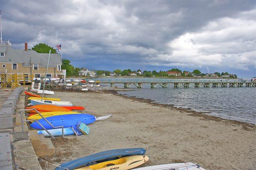
[[[115,86],[123,87],[123,84]],[[192,85],[192,84],[191,84]],[[150,88],[150,84],[143,84],[138,89],[131,86],[134,91],[122,91],[120,94],[136,96],[154,100],[160,104],[174,104],[175,107],[191,108],[200,112],[211,112],[221,118],[244,121],[256,124],[256,88],[234,87],[234,88],[193,88],[189,87],[174,89],[168,84],[164,89],[157,86]]]

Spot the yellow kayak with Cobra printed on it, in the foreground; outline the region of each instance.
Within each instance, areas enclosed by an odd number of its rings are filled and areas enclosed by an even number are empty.
[[[130,170],[144,164],[146,161],[148,161],[148,156],[145,155],[125,156],[116,160],[81,167],[76,170]]]

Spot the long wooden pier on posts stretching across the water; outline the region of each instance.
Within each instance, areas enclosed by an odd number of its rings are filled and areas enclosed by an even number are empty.
[[[246,82],[241,79],[167,79],[167,78],[93,78],[90,80],[99,81],[101,84],[124,84],[124,88],[132,85],[142,88],[143,84],[151,84],[151,88],[160,85],[167,88],[168,84],[173,84],[174,88],[189,87],[256,87],[256,81]]]

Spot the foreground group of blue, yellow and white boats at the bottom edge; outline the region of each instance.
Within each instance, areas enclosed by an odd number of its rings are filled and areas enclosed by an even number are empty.
[[[143,148],[108,150],[64,162],[55,170],[130,170],[149,160]],[[134,170],[205,170],[198,164],[176,163],[140,167]]]

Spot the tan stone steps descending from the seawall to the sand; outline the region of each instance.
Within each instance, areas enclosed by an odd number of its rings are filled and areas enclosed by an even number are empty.
[[[29,130],[29,138],[36,156],[52,156],[55,153],[51,139],[45,138],[43,134],[38,135],[37,130]]]

